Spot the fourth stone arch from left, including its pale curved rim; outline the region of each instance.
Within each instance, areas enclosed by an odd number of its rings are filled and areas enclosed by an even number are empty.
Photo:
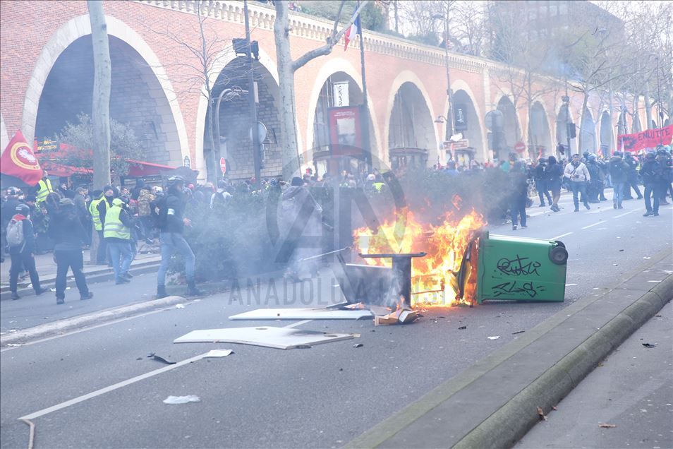
[[[403,95],[408,97],[408,100],[402,101]],[[395,109],[396,107],[398,109]],[[418,110],[412,112],[412,107]],[[389,156],[391,148],[406,146],[416,150],[426,150],[425,157],[428,164],[437,163],[439,136],[435,126],[435,117],[428,91],[416,73],[408,70],[399,73],[393,81],[386,109],[384,148],[387,148]],[[412,118],[413,121],[411,121]],[[405,124],[408,126],[402,127]],[[391,164],[394,165],[392,160]]]

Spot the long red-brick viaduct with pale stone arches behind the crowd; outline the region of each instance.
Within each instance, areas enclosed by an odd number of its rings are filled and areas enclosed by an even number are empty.
[[[85,1],[2,1],[0,2],[2,39],[0,44],[0,113],[1,148],[18,129],[28,140],[51,137],[66,120],[72,121],[78,107],[90,111],[92,67],[90,23]],[[195,32],[195,1],[105,1],[113,68],[111,115],[133,126],[143,142],[146,159],[152,162],[181,165],[186,156],[192,166],[205,177],[204,130],[207,104],[200,95],[200,85],[186,76],[186,63],[195,64],[185,46],[177,46],[167,37],[173,32],[193,47],[198,47]],[[218,37],[230,40],[243,37],[243,4],[240,1],[202,2],[202,13]],[[274,10],[250,2],[250,25],[253,40],[260,43],[257,71],[262,82],[259,88],[260,118],[274,134],[267,142],[267,163],[262,174],[281,171],[279,136],[277,132],[277,68],[273,36]],[[332,23],[302,14],[291,15],[291,47],[293,57],[320,46],[332,29]],[[401,146],[428,150],[428,163],[444,159],[438,143],[445,140],[446,116],[449,109],[446,95],[445,59],[442,49],[408,42],[388,35],[365,32],[368,102],[372,152],[385,163],[390,162],[389,149]],[[317,113],[329,97],[326,83],[346,80],[351,104],[362,100],[359,41],[348,51],[335,47],[332,54],[311,61],[296,73],[296,112],[298,143],[305,165],[313,158],[321,133],[322,118]],[[222,73],[235,61],[229,52],[218,55],[210,76],[222,79]],[[228,65],[229,64],[229,65]],[[540,97],[533,111],[534,131],[529,131],[528,109],[519,100],[512,105],[512,92],[502,82],[502,67],[486,59],[449,54],[451,89],[454,103],[464,104],[469,143],[476,149],[478,160],[490,160],[487,150],[486,112],[504,112],[507,144],[516,140],[532,140],[544,147],[545,154],[554,154],[557,142],[565,142],[562,111],[562,85]],[[581,149],[596,150],[600,145],[614,148],[619,108],[612,112],[605,99],[592,97],[588,110],[580,114],[581,95],[571,92],[569,114],[579,126]],[[221,124],[229,131],[228,157],[234,176],[251,172],[248,128],[234,126],[245,119],[247,100],[239,97],[225,102]],[[322,105],[322,106],[321,106]],[[327,106],[331,104],[326,104]],[[644,110],[638,111],[645,123]],[[612,116],[611,116],[612,115]],[[629,130],[633,125],[629,118]],[[638,126],[638,125],[636,125]],[[517,131],[519,130],[519,131]],[[41,135],[46,134],[46,135]],[[531,141],[532,141],[531,140]],[[576,149],[576,144],[575,148]],[[205,157],[204,157],[205,155]]]

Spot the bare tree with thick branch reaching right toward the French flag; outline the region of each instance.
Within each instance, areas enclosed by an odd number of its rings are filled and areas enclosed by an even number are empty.
[[[353,24],[356,16],[362,11],[362,8],[367,3],[368,1],[366,0],[361,2],[355,13],[353,13],[351,19],[344,25],[344,28],[342,28],[341,31],[337,31],[345,4],[345,0],[342,0],[339,5],[337,18],[334,20],[332,32],[329,34],[329,37],[327,37],[325,44],[321,47],[312,49],[293,60],[290,52],[291,28],[288,4],[286,1],[275,2],[276,21],[274,22],[274,36],[276,39],[276,62],[278,64],[278,85],[280,91],[278,112],[281,119],[281,157],[283,160],[283,176],[285,179],[290,179],[300,170],[299,148],[297,145],[294,73],[313,59],[330,54],[334,45],[339,42],[341,37],[346,33],[346,30]],[[362,45],[362,42],[360,42],[360,45]]]

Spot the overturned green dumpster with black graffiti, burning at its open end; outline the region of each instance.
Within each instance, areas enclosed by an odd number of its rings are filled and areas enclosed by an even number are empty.
[[[507,301],[563,301],[568,251],[560,241],[481,233],[459,271],[459,297]]]

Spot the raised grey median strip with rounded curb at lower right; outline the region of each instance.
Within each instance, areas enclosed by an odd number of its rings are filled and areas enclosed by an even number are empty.
[[[566,307],[346,447],[511,447],[538,423],[538,407],[549,414],[673,299],[670,249],[650,262],[607,292]],[[662,342],[662,350],[670,350],[669,342]]]

